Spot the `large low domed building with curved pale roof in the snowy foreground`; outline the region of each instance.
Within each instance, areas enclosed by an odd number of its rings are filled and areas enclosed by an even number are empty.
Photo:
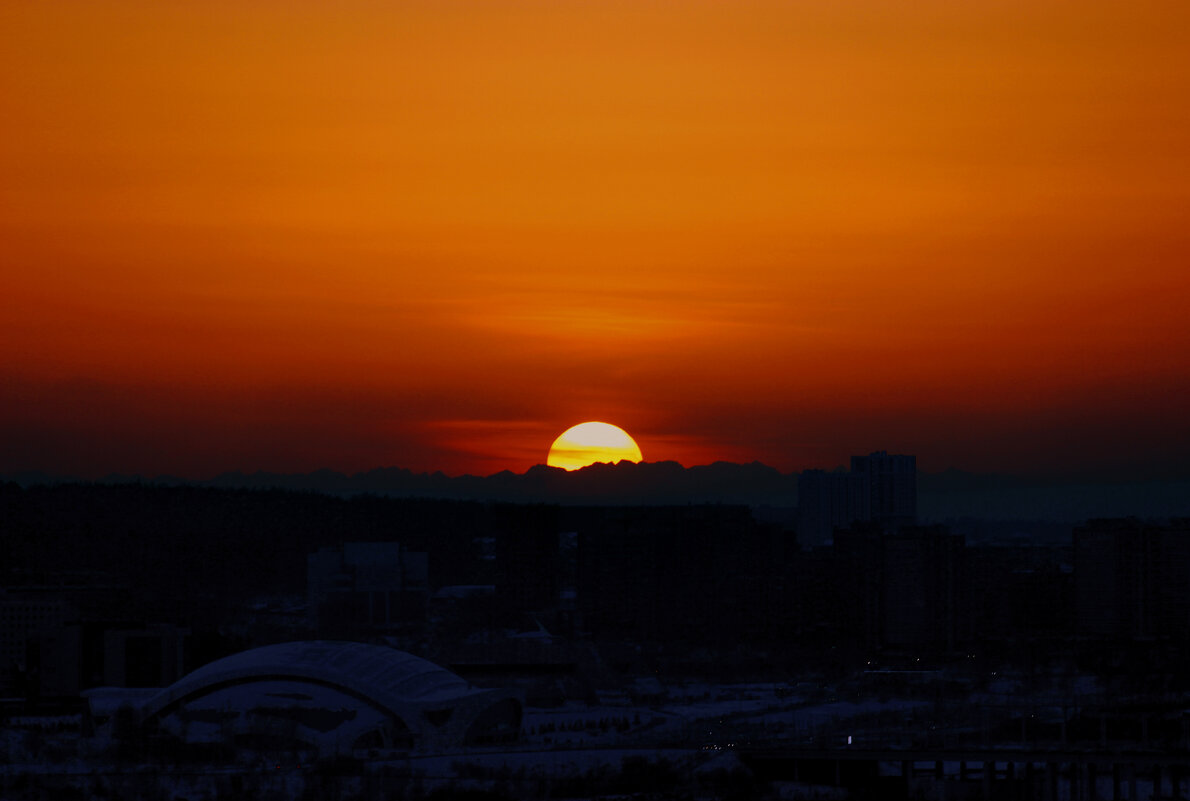
[[[514,739],[515,694],[471,687],[380,645],[267,645],[212,662],[156,693],[140,719],[189,741],[248,747],[443,750]]]

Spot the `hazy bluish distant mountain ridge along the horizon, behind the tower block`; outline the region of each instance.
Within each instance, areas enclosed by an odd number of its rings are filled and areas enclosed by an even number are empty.
[[[21,486],[76,482],[68,476],[19,473],[0,476]],[[447,476],[403,468],[365,473],[224,473],[208,481],[174,476],[109,475],[96,483],[152,483],[231,489],[290,489],[343,498],[381,495],[437,500],[563,505],[740,503],[790,508],[797,505],[797,474],[760,462],[715,462],[685,468],[677,462],[593,464],[568,473],[538,464],[522,474]],[[1097,517],[1190,515],[1190,481],[1096,482],[1036,480],[962,470],[919,473],[919,517],[1077,522]]]

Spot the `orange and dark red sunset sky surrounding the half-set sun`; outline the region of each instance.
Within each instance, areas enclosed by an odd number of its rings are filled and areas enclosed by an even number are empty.
[[[0,471],[1190,473],[1190,4],[10,2]]]

